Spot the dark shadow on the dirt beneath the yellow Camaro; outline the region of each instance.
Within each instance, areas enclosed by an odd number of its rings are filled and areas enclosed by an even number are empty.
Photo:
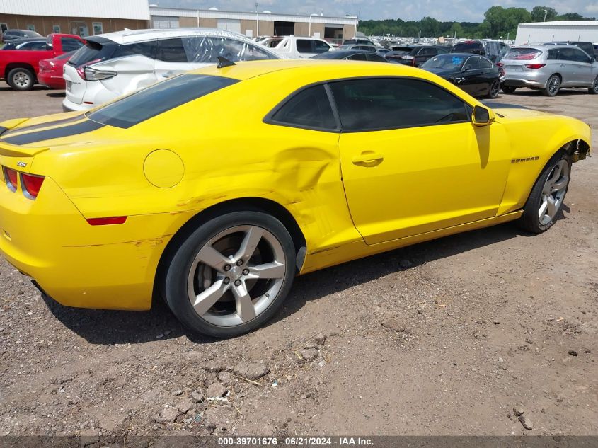
[[[559,212],[559,219],[565,219],[563,211],[568,213],[568,207],[563,206]],[[297,314],[308,301],[405,270],[406,264],[414,268],[518,236],[531,236],[531,234],[519,230],[512,223],[501,224],[464,234],[445,236],[297,277],[286,303],[265,325],[271,325]],[[408,260],[408,263],[403,260]],[[42,298],[48,309],[64,326],[91,344],[137,344],[179,338],[183,335],[193,343],[214,341],[212,338],[188,331],[160,299],[154,300],[149,311],[109,311],[62,306],[45,294],[42,294]]]

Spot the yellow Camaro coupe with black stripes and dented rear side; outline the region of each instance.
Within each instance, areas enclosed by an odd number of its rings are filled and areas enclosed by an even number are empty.
[[[0,123],[0,252],[67,306],[262,325],[297,274],[519,219],[548,229],[590,128],[420,69],[220,64]]]

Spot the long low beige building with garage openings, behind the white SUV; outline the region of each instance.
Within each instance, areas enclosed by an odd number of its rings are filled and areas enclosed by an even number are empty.
[[[219,28],[248,38],[297,35],[339,43],[355,37],[357,17],[328,17],[313,14],[218,11],[217,9],[176,9],[150,6],[151,28]]]

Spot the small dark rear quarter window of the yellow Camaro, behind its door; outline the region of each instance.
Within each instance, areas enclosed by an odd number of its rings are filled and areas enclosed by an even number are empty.
[[[271,120],[284,125],[317,130],[335,130],[336,120],[322,84],[308,87],[288,100]]]

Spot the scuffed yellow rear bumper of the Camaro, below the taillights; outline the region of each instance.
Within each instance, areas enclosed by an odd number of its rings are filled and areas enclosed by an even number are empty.
[[[36,200],[0,181],[0,255],[65,306],[149,309],[171,225],[154,214],[91,226],[51,178]]]

